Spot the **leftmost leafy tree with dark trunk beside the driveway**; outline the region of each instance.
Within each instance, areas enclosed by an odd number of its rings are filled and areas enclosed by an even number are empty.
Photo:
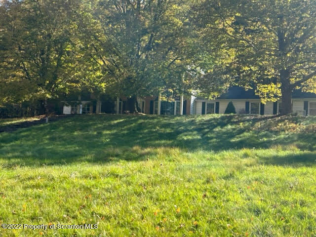
[[[0,79],[2,101],[57,97],[77,84],[74,7],[62,0],[4,0],[0,5]]]

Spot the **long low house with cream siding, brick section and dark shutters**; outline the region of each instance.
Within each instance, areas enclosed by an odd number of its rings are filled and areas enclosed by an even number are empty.
[[[124,114],[126,97],[115,100],[103,96],[98,100],[78,97],[76,101],[65,101],[63,114],[109,113]],[[280,113],[281,102],[261,102],[254,90],[234,86],[214,100],[194,96],[179,96],[174,101],[162,101],[159,96],[138,98],[140,112],[147,115],[207,115],[224,114],[230,101],[237,114],[276,115]],[[316,94],[295,90],[292,94],[293,112],[298,115],[316,115]]]

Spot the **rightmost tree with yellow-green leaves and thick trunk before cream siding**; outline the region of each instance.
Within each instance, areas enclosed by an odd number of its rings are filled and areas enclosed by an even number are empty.
[[[315,0],[205,0],[199,13],[209,48],[230,54],[222,84],[254,87],[263,101],[281,96],[283,114],[294,89],[316,92]]]

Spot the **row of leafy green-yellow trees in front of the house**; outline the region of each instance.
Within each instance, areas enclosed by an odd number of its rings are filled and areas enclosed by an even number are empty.
[[[90,91],[136,98],[232,85],[316,92],[315,0],[0,0],[0,106]]]

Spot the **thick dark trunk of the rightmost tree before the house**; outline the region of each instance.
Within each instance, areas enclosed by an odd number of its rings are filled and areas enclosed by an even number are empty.
[[[288,115],[292,113],[292,87],[289,80],[289,72],[287,70],[281,70],[281,115]]]

